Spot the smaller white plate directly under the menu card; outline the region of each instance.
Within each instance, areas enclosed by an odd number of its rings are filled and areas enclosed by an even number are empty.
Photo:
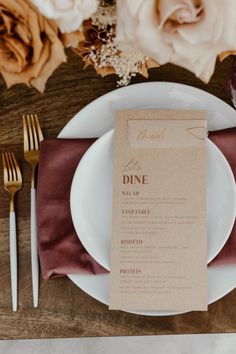
[[[71,215],[87,252],[110,270],[112,234],[113,130],[85,153],[71,187]],[[234,175],[221,151],[207,141],[208,263],[215,258],[232,230],[236,194]]]

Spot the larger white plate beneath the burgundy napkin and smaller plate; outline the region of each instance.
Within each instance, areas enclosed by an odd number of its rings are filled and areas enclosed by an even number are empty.
[[[114,127],[114,111],[128,108],[206,109],[208,129],[236,126],[236,112],[217,97],[197,88],[170,83],[150,82],[112,91],[77,113],[59,134],[59,138],[100,137]],[[68,277],[94,299],[108,304],[109,274]],[[208,303],[222,298],[236,285],[236,265],[209,267]],[[169,315],[168,312],[142,312],[144,315]]]

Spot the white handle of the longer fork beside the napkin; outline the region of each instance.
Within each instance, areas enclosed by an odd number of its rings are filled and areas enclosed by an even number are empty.
[[[31,269],[34,307],[38,307],[39,293],[38,237],[36,224],[36,189],[31,188]]]

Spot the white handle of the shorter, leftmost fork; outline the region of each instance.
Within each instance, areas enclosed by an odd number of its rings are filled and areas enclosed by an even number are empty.
[[[14,211],[9,215],[10,229],[10,269],[11,269],[11,296],[12,310],[17,310],[17,241],[16,241],[16,214]]]

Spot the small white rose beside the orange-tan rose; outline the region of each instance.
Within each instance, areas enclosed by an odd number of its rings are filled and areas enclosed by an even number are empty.
[[[97,0],[32,0],[46,17],[57,21],[62,33],[79,29],[97,10]]]

